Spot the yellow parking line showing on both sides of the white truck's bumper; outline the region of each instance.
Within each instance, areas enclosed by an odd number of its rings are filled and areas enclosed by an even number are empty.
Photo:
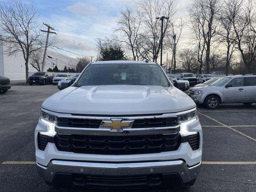
[[[2,164],[12,165],[35,165],[34,161],[5,161]],[[256,165],[254,161],[202,161],[202,164],[208,165]]]

